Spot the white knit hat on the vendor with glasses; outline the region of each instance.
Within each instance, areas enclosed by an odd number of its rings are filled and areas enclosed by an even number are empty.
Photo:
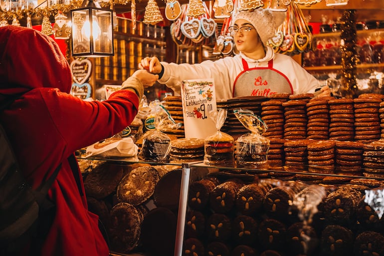
[[[238,19],[249,21],[256,28],[265,46],[268,39],[275,35],[276,28],[283,23],[286,15],[286,12],[272,11],[268,8],[257,8],[254,11],[242,10],[235,14],[233,24]]]

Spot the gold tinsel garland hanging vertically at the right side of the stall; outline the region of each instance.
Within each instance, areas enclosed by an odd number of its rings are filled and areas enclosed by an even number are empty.
[[[342,16],[341,23],[341,52],[342,52],[342,66],[343,66],[343,79],[344,89],[342,92],[343,97],[354,98],[357,91],[356,83],[356,25],[355,25],[356,10],[345,10]]]

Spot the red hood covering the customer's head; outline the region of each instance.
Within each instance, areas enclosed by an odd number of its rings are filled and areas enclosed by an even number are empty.
[[[52,85],[69,93],[72,83],[69,64],[49,36],[32,28],[0,27],[0,54],[0,93],[13,94]]]

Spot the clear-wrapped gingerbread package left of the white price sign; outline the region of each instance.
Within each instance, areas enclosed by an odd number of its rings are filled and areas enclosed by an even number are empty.
[[[176,123],[162,104],[151,112],[155,114],[155,130],[147,131],[141,138],[143,146],[139,153],[139,159],[168,163],[170,160],[171,138],[162,131],[179,129],[182,124]]]

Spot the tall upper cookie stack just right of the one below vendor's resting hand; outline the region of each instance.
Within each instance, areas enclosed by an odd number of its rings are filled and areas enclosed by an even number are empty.
[[[353,99],[331,99],[328,104],[331,118],[329,138],[339,141],[353,141],[355,135]]]

